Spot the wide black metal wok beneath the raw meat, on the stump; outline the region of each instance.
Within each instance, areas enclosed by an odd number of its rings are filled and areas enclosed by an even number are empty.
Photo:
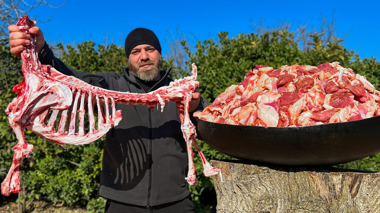
[[[380,152],[380,116],[305,127],[198,121],[199,135],[231,157],[282,165],[334,165]]]

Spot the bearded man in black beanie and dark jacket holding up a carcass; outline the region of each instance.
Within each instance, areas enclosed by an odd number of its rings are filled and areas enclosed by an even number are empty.
[[[30,35],[9,26],[11,53],[20,57]],[[161,46],[148,29],[136,28],[125,39],[128,67],[123,74],[89,74],[67,67],[55,58],[43,33],[32,27],[36,51],[42,64],[50,64],[65,75],[73,75],[105,89],[147,93],[169,85],[171,68],[161,70]],[[208,104],[199,91],[193,93],[189,111],[203,110]],[[117,104],[122,121],[106,135],[99,196],[107,199],[107,213],[194,212],[187,176],[187,151],[180,129],[179,113],[183,102],[169,102],[163,113],[146,106]],[[194,118],[191,115],[192,120]]]

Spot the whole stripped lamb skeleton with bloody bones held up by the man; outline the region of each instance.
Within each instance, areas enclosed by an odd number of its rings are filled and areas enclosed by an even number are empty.
[[[17,23],[19,29],[28,33],[36,23],[25,15]],[[190,121],[188,107],[192,93],[198,89],[196,81],[197,69],[192,64],[192,76],[178,79],[163,86],[156,91],[146,94],[130,92],[116,92],[89,85],[73,76],[63,75],[50,65],[41,65],[35,52],[35,36],[31,35],[31,44],[21,53],[22,72],[24,80],[14,86],[17,97],[8,105],[6,113],[9,114],[9,123],[16,133],[19,143],[13,147],[15,150],[13,164],[8,175],[1,185],[2,194],[9,196],[22,190],[19,164],[33,151],[33,145],[28,144],[24,136],[24,128],[37,135],[60,144],[88,144],[105,135],[112,127],[117,126],[122,119],[121,111],[115,108],[115,103],[128,105],[147,105],[150,109],[161,105],[161,111],[168,101],[185,101],[184,113],[180,114],[181,130],[186,140],[188,152],[188,174],[186,177],[190,185],[196,184],[195,166],[193,163],[192,144],[201,155],[204,174],[220,174],[220,169],[210,166],[196,143],[195,126]],[[111,111],[109,109],[111,100]],[[89,114],[89,132],[84,130],[85,103]],[[95,128],[94,104],[97,106],[98,126]],[[79,110],[78,110],[79,105]],[[104,106],[104,107],[103,107]],[[50,111],[50,119],[49,113]],[[77,112],[78,120],[77,122]],[[55,122],[60,113],[58,128]],[[47,122],[48,121],[48,122]],[[46,124],[47,122],[47,124]],[[78,125],[79,123],[79,125]]]

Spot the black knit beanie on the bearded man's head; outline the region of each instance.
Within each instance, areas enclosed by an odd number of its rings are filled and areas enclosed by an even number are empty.
[[[141,44],[152,45],[161,54],[161,46],[156,34],[146,28],[136,28],[125,39],[125,54],[127,54],[127,58],[129,58],[132,49]]]

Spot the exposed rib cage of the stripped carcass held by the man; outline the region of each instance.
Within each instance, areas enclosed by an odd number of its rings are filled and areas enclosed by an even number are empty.
[[[111,100],[112,116],[109,115],[108,111],[109,99]],[[96,127],[93,113],[94,103],[98,114]],[[107,112],[104,110],[104,105],[107,106]],[[112,97],[99,97],[98,94],[94,97],[91,91],[73,90],[73,101],[70,107],[62,111],[60,117],[58,116],[59,110],[52,110],[50,114],[49,110],[50,108],[46,108],[46,110],[41,111],[32,120],[32,125],[26,128],[32,132],[38,132],[42,137],[63,147],[65,147],[64,144],[81,145],[91,143],[105,135],[109,129],[116,126],[122,119],[120,110],[117,111],[120,116],[116,116],[115,102]],[[88,113],[89,121],[87,128],[84,123],[86,112]],[[106,115],[106,119],[104,115]],[[59,119],[59,124],[55,128],[57,119]]]

